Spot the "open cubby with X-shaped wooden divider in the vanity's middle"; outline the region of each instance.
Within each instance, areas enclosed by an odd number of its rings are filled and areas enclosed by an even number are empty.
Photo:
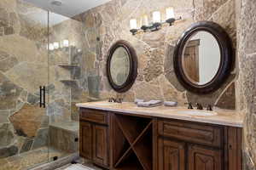
[[[114,169],[152,170],[152,120],[115,114],[113,131]]]

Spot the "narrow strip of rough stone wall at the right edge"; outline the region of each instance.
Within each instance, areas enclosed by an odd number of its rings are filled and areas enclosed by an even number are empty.
[[[244,116],[243,160],[245,170],[256,168],[256,3],[251,0],[237,0],[241,5],[238,20],[238,64],[237,106]]]

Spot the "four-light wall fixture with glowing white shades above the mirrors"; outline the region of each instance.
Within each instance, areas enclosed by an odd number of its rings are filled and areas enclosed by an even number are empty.
[[[152,23],[148,25],[148,16],[143,15],[143,18],[142,18],[143,26],[140,29],[137,28],[137,20],[136,19],[130,20],[130,27],[131,27],[130,31],[131,31],[132,35],[136,35],[136,33],[140,30],[142,30],[143,32],[159,31],[161,29],[161,27],[163,25],[165,25],[166,23],[168,23],[169,26],[172,26],[176,20],[182,20],[181,16],[179,18],[175,17],[174,9],[172,7],[166,8],[166,20],[165,21],[161,21],[162,17],[161,17],[160,11],[154,11],[152,13],[152,18],[153,18]]]

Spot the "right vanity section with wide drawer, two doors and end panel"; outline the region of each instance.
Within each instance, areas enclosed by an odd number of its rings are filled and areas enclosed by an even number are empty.
[[[241,128],[158,120],[158,169],[241,170]]]

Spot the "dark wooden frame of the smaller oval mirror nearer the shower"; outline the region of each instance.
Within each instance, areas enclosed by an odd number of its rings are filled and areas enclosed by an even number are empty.
[[[127,54],[129,55],[129,60],[130,60],[129,75],[125,83],[122,84],[121,86],[113,82],[113,78],[111,77],[111,73],[110,73],[110,66],[111,66],[110,63],[113,57],[113,53],[117,48],[120,48],[120,47],[125,48]],[[126,42],[125,40],[119,40],[118,42],[115,42],[112,45],[112,47],[109,49],[108,59],[107,59],[107,77],[108,77],[108,82],[110,86],[118,93],[124,93],[128,91],[133,85],[133,83],[135,82],[137,78],[137,54],[135,49],[131,46],[129,42]]]

